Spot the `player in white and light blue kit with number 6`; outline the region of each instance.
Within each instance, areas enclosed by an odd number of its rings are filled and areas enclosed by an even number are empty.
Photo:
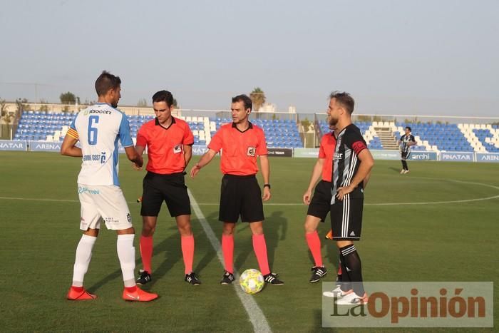
[[[116,109],[120,90],[120,78],[103,71],[96,81],[98,103],[78,113],[61,145],[62,155],[83,157],[78,175],[83,235],[76,247],[73,284],[67,295],[71,300],[97,298],[83,288],[83,277],[90,265],[101,218],[108,229],[118,234],[116,250],[125,285],[123,299],[148,302],[158,298],[157,294],[140,290],[133,276],[135,230],[118,181],[118,140],[129,160],[138,166],[143,165],[143,160],[133,147],[127,117]],[[76,147],[78,140],[81,148]]]

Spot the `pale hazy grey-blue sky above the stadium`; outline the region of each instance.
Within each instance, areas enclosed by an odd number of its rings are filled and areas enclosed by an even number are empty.
[[[95,101],[104,69],[120,105],[171,91],[228,109],[262,88],[287,111],[499,117],[499,1],[3,0],[0,98]],[[36,83],[36,84],[35,84]]]

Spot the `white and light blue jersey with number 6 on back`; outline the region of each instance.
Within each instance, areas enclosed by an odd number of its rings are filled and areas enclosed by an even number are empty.
[[[68,134],[80,140],[83,153],[78,184],[117,185],[118,140],[133,146],[128,118],[107,103],[97,103],[78,113]]]

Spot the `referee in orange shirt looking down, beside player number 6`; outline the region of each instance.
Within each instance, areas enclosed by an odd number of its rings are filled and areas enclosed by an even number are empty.
[[[153,108],[156,118],[142,125],[137,134],[136,145],[140,155],[148,147],[148,173],[143,180],[140,209],[140,256],[144,269],[139,272],[137,284],[144,285],[151,280],[153,235],[158,213],[165,201],[180,232],[185,281],[191,285],[200,285],[199,277],[192,271],[194,236],[190,226],[190,200],[184,180],[184,170],[192,157],[194,136],[185,121],[172,116],[173,96],[170,91],[155,93]]]

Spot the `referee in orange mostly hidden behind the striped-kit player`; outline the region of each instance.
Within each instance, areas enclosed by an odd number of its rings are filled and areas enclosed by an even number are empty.
[[[329,121],[329,120],[328,120]],[[330,126],[331,130],[336,127]],[[319,158],[314,165],[312,175],[310,176],[309,187],[303,195],[303,203],[309,206],[307,217],[305,217],[305,240],[309,250],[314,257],[314,267],[312,267],[312,277],[309,282],[314,283],[321,280],[327,274],[326,267],[322,263],[321,240],[317,233],[319,222],[324,222],[326,216],[331,210],[331,177],[333,175],[333,154],[336,138],[334,133],[326,133],[321,138],[319,146]],[[322,179],[317,183],[319,178]],[[316,185],[317,183],[317,185]],[[314,196],[312,189],[315,186]],[[341,279],[341,267],[339,267],[339,279]]]

